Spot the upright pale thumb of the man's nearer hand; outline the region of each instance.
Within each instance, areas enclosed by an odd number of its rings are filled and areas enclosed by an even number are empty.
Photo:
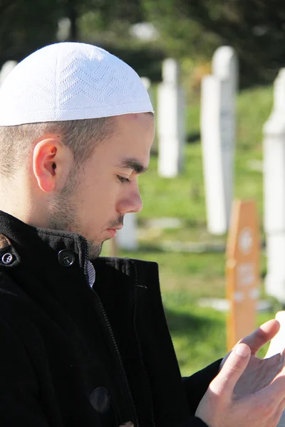
[[[237,344],[232,353],[229,354],[219,374],[213,379],[211,383],[212,391],[220,394],[227,390],[227,395],[230,396],[244,369],[246,369],[249,358],[249,346],[247,344]]]

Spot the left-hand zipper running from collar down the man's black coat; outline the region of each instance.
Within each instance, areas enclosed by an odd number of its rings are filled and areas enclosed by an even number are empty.
[[[84,273],[85,273],[86,283],[87,283],[87,278],[88,278],[87,263],[88,263],[88,258],[89,258],[87,242],[85,243],[85,255],[86,255],[86,258],[85,258],[85,262],[84,262]],[[102,301],[100,300],[100,297],[99,297],[98,293],[95,292],[95,290],[93,290],[93,288],[90,288],[89,283],[87,283],[87,285],[88,285],[88,288],[91,290],[91,292],[93,292],[93,295],[95,295],[95,297],[97,299],[100,311],[101,311],[101,313],[102,313],[102,315],[104,317],[104,320],[105,320],[105,325],[107,326],[108,332],[110,333],[110,337],[112,338],[113,345],[115,347],[115,352],[117,354],[118,361],[120,363],[120,369],[121,369],[121,371],[123,373],[123,377],[124,377],[124,380],[125,380],[125,386],[127,387],[128,396],[129,396],[130,402],[131,402],[131,404],[133,406],[133,413],[134,413],[134,417],[135,417],[135,420],[134,420],[135,421],[135,427],[139,427],[140,423],[139,423],[139,420],[138,420],[137,409],[135,407],[135,402],[134,402],[134,399],[133,399],[133,394],[132,394],[132,391],[130,389],[130,384],[128,382],[127,374],[125,373],[125,367],[123,365],[123,359],[122,359],[122,356],[120,354],[120,349],[119,349],[118,344],[116,342],[113,329],[112,329],[112,327],[110,325],[110,321],[108,319],[107,313],[105,312],[105,308],[103,306]]]

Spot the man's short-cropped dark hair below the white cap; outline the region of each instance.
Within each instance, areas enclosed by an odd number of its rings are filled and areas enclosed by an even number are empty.
[[[6,179],[14,176],[36,141],[46,133],[58,133],[63,144],[73,152],[75,164],[82,167],[96,145],[113,135],[114,130],[113,117],[1,126],[0,176]]]

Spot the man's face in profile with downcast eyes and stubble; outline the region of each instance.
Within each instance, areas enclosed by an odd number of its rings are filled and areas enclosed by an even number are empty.
[[[115,132],[98,144],[83,172],[66,182],[53,204],[50,227],[79,233],[96,258],[123,217],[142,209],[138,175],[147,168],[155,125],[152,115],[114,117]]]

